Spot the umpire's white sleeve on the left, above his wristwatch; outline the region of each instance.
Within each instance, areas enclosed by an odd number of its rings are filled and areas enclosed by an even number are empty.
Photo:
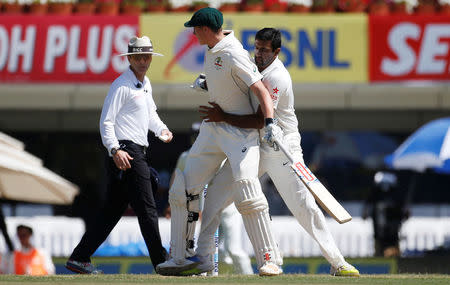
[[[100,116],[100,135],[103,145],[108,149],[108,153],[110,153],[112,148],[119,148],[119,141],[114,131],[114,125],[125,99],[126,87],[120,86],[115,88],[111,86],[103,103],[102,114]]]

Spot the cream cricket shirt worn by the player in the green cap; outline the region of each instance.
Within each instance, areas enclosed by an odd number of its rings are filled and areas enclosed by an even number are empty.
[[[233,31],[224,33],[226,36],[205,53],[209,100],[230,114],[252,114],[249,87],[262,75]]]

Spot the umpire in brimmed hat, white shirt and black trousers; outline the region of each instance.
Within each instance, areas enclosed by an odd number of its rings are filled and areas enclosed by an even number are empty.
[[[128,52],[120,56],[125,55],[130,67],[112,83],[100,118],[100,134],[109,154],[106,203],[66,263],[67,269],[77,273],[102,273],[91,264],[90,256],[108,237],[128,204],[138,217],[153,266],[167,258],[146,159],[148,130],[166,143],[172,140],[172,133],[156,113],[152,87],[145,75],[152,56],[162,55],[153,51],[146,36],[131,38]]]

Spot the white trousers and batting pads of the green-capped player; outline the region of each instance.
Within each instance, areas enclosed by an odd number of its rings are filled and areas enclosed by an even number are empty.
[[[230,177],[224,183],[233,189],[230,190],[234,194],[233,202],[242,215],[258,268],[265,262],[281,262],[275,237],[270,229],[267,200],[258,180],[258,138],[257,130],[236,128],[225,123],[202,122],[200,133],[186,158],[182,174],[184,178],[175,176],[169,190],[172,208],[170,244],[175,263],[182,264],[185,257],[192,254],[195,223],[200,211],[200,201],[196,197],[204,185],[210,184],[208,182],[225,158],[229,161]],[[225,193],[215,194],[221,196]],[[208,199],[205,199],[204,204],[203,217],[211,208]],[[213,242],[212,238],[211,236]]]

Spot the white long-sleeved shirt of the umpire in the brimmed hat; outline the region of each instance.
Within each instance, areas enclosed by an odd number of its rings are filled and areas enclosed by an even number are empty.
[[[111,84],[100,117],[100,134],[103,145],[111,154],[119,147],[119,140],[130,140],[148,146],[147,132],[156,135],[168,129],[156,113],[152,86],[147,76],[140,82],[128,68]]]

